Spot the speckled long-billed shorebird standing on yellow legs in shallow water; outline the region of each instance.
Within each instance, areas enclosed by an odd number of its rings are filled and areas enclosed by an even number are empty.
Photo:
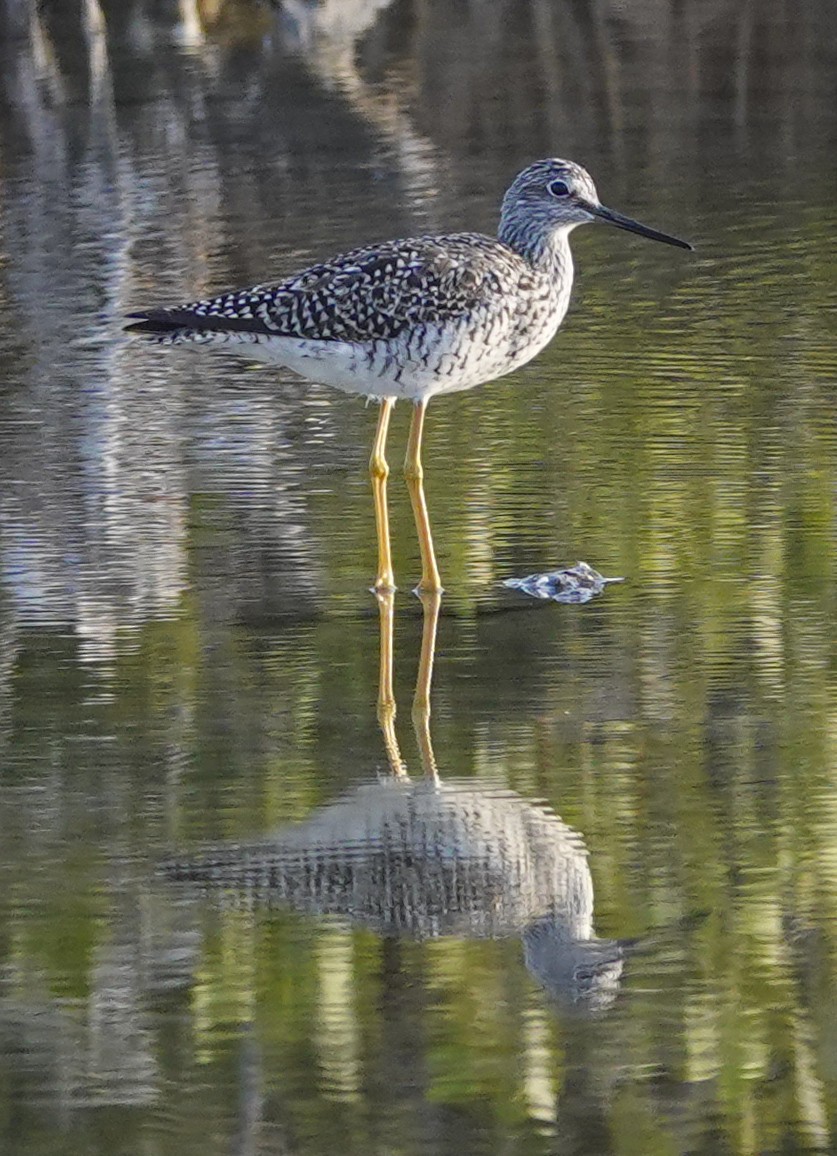
[[[239,349],[380,403],[370,459],[377,591],[394,588],[390,417],[395,401],[413,401],[405,475],[422,558],[418,588],[440,591],[421,461],[428,402],[511,373],[548,344],[570,303],[570,232],[591,221],[691,249],[606,208],[579,164],[550,158],[514,178],[496,237],[458,232],[368,245],[277,283],[131,313],[127,328],[162,344]]]

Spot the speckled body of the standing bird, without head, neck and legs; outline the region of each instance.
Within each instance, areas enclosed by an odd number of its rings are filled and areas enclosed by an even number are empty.
[[[480,234],[386,242],[275,286],[145,316],[163,343],[244,346],[249,356],[369,397],[416,399],[511,372],[553,336],[571,259],[533,267]]]

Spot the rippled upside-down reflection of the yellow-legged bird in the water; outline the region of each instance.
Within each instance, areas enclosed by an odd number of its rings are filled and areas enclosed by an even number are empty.
[[[395,732],[394,594],[380,612],[378,719],[388,772],[257,844],[171,861],[171,879],[254,905],[338,916],[385,938],[520,936],[529,972],[562,1002],[608,1006],[622,947],[593,932],[593,883],[580,836],[548,807],[486,780],[439,777],[430,684],[440,595],[424,593],[413,701],[422,776],[410,778]]]

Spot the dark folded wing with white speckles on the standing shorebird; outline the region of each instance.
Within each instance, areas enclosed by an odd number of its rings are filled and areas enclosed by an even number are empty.
[[[516,254],[480,234],[417,237],[356,249],[277,284],[173,309],[132,313],[128,328],[259,333],[368,342],[479,310],[516,273]]]

